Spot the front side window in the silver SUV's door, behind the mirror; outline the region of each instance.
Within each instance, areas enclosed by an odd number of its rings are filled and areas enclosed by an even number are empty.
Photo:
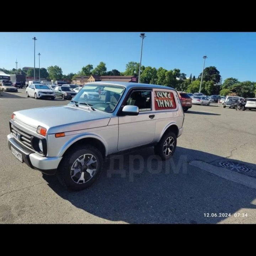
[[[151,91],[133,91],[126,105],[137,106],[140,112],[152,110]]]

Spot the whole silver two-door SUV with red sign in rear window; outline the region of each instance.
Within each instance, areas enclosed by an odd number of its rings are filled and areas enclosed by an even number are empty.
[[[95,89],[106,91],[95,97]],[[154,145],[170,159],[183,131],[184,113],[170,87],[92,82],[66,106],[16,111],[7,136],[12,154],[33,169],[56,174],[71,190],[89,187],[110,154]]]

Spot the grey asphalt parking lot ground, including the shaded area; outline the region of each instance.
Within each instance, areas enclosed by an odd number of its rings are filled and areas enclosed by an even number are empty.
[[[69,192],[15,159],[6,138],[14,111],[69,101],[1,95],[0,223],[256,223],[256,111],[193,105],[170,161],[152,147],[113,156],[94,185]]]

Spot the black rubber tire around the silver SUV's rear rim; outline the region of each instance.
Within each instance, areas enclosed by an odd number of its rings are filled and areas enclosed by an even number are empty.
[[[174,140],[174,146],[172,148],[170,148],[170,150],[171,150],[170,155],[166,155],[165,152],[164,152],[166,147],[164,145],[166,143],[166,140],[170,137]],[[170,140],[170,142],[172,142],[172,139]],[[176,145],[177,145],[176,134],[174,132],[166,132],[166,133],[164,133],[164,135],[162,135],[162,138],[160,139],[158,144],[155,145],[154,152],[155,152],[156,155],[159,155],[162,160],[168,160],[174,154],[175,149],[176,149]]]

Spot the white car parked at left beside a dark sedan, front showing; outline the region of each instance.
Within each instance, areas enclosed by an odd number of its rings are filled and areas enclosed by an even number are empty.
[[[52,89],[49,89],[47,85],[42,84],[31,84],[26,88],[26,96],[27,97],[34,97],[35,99],[38,98],[51,98],[52,100],[55,99],[55,94]]]

